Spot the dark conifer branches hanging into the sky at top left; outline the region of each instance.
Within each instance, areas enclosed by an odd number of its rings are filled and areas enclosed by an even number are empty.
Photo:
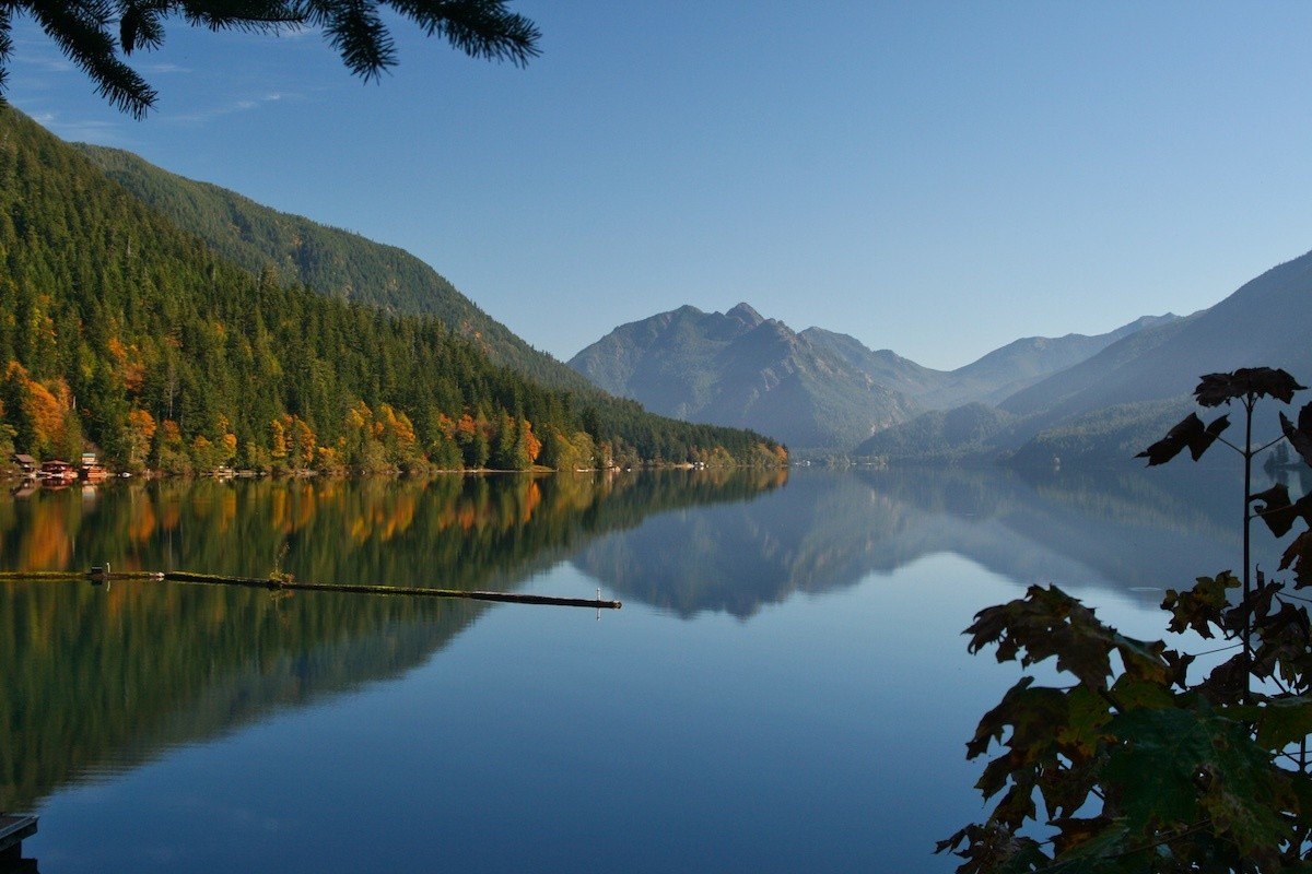
[[[135,118],[156,92],[125,56],[164,42],[169,18],[210,30],[285,33],[319,30],[352,73],[370,80],[396,63],[384,8],[412,20],[425,35],[443,37],[474,58],[523,66],[539,54],[538,28],[506,9],[508,0],[0,0],[0,94],[18,16],[29,16],[114,107]]]

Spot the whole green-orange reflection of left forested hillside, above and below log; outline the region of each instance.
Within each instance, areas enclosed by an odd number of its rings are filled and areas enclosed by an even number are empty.
[[[740,501],[773,473],[156,482],[0,501],[0,567],[291,573],[514,588],[651,512]],[[118,582],[0,590],[0,810],[277,708],[394,676],[485,604]]]

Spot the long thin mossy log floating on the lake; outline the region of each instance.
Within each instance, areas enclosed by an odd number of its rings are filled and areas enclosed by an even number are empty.
[[[100,567],[80,570],[0,571],[0,582],[89,579],[104,583],[118,579],[168,580],[174,583],[205,583],[210,586],[245,586],[248,588],[298,590],[307,592],[352,592],[356,595],[411,595],[415,598],[463,598],[474,601],[501,601],[506,604],[547,604],[554,607],[592,607],[619,609],[621,601],[592,598],[555,598],[552,595],[523,595],[518,592],[467,592],[459,588],[422,588],[404,586],[354,586],[342,583],[302,583],[295,579],[269,579],[258,577],[219,577],[194,574],[185,570],[106,573]]]

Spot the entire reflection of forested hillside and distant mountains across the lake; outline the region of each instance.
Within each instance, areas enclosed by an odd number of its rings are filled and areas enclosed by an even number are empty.
[[[1308,482],[1295,477],[1291,486],[1302,493]],[[1151,605],[1161,588],[1233,566],[1235,493],[1232,470],[121,484],[0,497],[0,567],[110,562],[513,591],[568,562],[666,617],[723,612],[747,622],[796,594],[879,586],[953,554],[1017,586],[1111,590]],[[1270,539],[1257,533],[1258,556],[1270,556]],[[396,677],[495,609],[554,608],[165,583],[3,584],[0,808],[31,808],[87,777]],[[607,617],[630,621],[628,611]],[[533,654],[508,642],[508,658]]]

